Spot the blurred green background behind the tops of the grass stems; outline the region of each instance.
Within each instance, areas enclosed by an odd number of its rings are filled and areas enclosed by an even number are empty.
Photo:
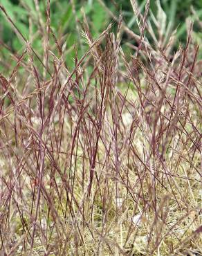
[[[29,41],[31,40],[33,48],[40,51],[42,48],[43,26],[39,20],[41,19],[46,24],[46,0],[1,0],[0,2],[24,37]],[[39,3],[40,12],[36,8],[37,2]],[[145,9],[145,2],[145,0],[138,1],[142,13]],[[150,2],[151,8],[148,20],[155,31],[158,30],[158,28],[155,28],[155,17],[158,15],[158,8],[156,8],[156,1],[152,0]],[[189,20],[196,21],[194,22],[193,39],[196,43],[202,44],[202,33],[199,27],[199,20],[202,20],[201,0],[160,0],[159,3],[163,10],[161,13],[163,22],[166,23],[167,30],[165,30],[165,33],[172,33],[177,28],[176,47],[186,42],[187,21]],[[82,11],[85,12],[89,21],[93,38],[98,37],[107,25],[113,21],[113,18],[119,16],[120,10],[122,10],[123,20],[128,28],[139,34],[136,17],[129,0],[50,0],[50,10],[51,28],[57,38],[61,39],[61,42],[66,42],[66,49],[68,49],[66,62],[70,66],[74,57],[73,45],[77,42],[83,44],[82,47],[78,47],[79,56],[87,48],[84,42],[81,43]],[[24,42],[21,42],[21,39],[17,37],[15,30],[2,12],[0,12],[0,37],[1,60],[8,54],[8,48],[3,44],[6,44],[10,48],[9,51],[13,53],[23,51]],[[147,38],[149,39],[150,35],[147,35]],[[122,47],[125,47],[125,42],[135,44],[128,35],[123,33]],[[127,51],[130,53],[129,49]],[[2,69],[2,66],[0,69]]]

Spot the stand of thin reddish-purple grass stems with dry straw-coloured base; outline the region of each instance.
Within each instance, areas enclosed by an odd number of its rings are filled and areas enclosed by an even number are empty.
[[[94,39],[84,15],[72,69],[50,1],[40,51],[0,6],[24,42],[0,74],[1,255],[201,255],[199,46],[131,6],[138,35],[120,14]]]

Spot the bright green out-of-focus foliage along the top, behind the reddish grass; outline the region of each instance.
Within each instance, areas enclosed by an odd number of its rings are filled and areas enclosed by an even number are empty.
[[[76,19],[82,20],[82,12],[81,8],[84,7],[84,11],[86,15],[88,15],[89,19],[91,19],[91,24],[93,26],[93,30],[95,31],[95,35],[98,35],[104,28],[107,23],[111,20],[111,17],[107,15],[106,10],[104,10],[103,6],[100,5],[98,1],[73,1],[75,5],[75,15],[73,13],[73,7],[71,5],[71,1],[50,1],[51,8],[51,26],[57,30],[59,28],[60,33],[75,33],[75,23]],[[125,20],[127,24],[129,24],[129,28],[137,30],[136,17],[134,17],[134,13],[131,9],[130,1],[120,0],[116,7],[113,2],[106,1],[105,3],[107,7],[110,8],[115,15],[118,15],[120,8],[122,8],[122,12],[125,16]],[[29,15],[34,15],[37,19],[37,11],[35,9],[35,4],[33,0],[26,1],[17,1],[17,0],[1,0],[1,4],[4,8],[6,8],[8,15],[15,21],[15,25],[21,33],[28,37],[28,18]],[[145,0],[140,0],[140,10],[144,9]],[[167,20],[172,24],[173,28],[178,27],[178,39],[182,42],[185,42],[185,19],[187,17],[193,17],[190,11],[190,6],[193,6],[196,11],[199,13],[199,16],[202,16],[202,1],[196,0],[161,0],[160,5],[162,6],[165,14],[167,15]],[[157,15],[156,1],[151,1],[150,3],[151,10],[154,13],[154,16]],[[27,8],[26,8],[27,7]],[[44,13],[43,19],[45,19],[46,7],[44,1],[39,1],[39,7]],[[30,12],[28,12],[29,9]],[[19,51],[21,48],[21,43],[19,39],[15,36],[15,33],[12,32],[12,28],[10,28],[10,24],[6,21],[3,15],[0,15],[1,21],[1,38],[4,42],[10,44],[14,51]],[[39,39],[38,39],[39,40]],[[69,38],[69,43],[77,41],[77,36],[73,36]]]

